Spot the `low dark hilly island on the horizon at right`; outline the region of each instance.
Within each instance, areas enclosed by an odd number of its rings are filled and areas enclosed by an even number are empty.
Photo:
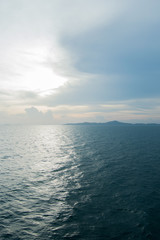
[[[131,125],[149,125],[149,126],[154,126],[154,125],[160,125],[157,123],[124,123],[124,122],[119,122],[119,121],[110,121],[110,122],[105,122],[105,123],[97,123],[97,122],[82,122],[82,123],[66,123],[64,125],[105,125],[105,126],[131,126]]]

